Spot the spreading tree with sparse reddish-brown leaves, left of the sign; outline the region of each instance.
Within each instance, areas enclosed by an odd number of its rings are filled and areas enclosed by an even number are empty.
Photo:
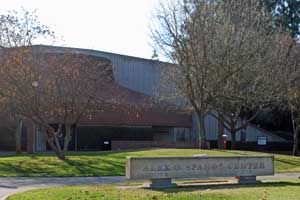
[[[64,159],[72,126],[105,105],[101,90],[113,81],[110,61],[34,47],[5,49],[1,55],[3,95],[11,110],[39,125],[51,149]]]

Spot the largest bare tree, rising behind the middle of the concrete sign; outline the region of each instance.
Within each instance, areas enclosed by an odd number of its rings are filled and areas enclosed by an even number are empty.
[[[219,108],[227,108],[222,113],[225,120],[232,114],[239,116],[255,97],[250,98],[254,84],[250,79],[257,75],[256,69],[277,60],[269,51],[277,47],[274,41],[281,32],[272,23],[255,0],[174,0],[161,3],[157,9],[153,41],[176,64],[163,76],[175,84],[176,95],[185,97],[196,112],[200,147],[206,146],[205,116],[222,110]],[[247,93],[246,102],[243,95]],[[242,102],[237,111],[233,110],[235,101]]]

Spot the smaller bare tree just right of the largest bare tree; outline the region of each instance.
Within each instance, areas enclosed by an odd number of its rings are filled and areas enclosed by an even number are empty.
[[[274,30],[269,34],[271,37],[265,41],[264,52],[257,55],[259,57],[256,56],[251,65],[243,67],[223,82],[221,92],[215,98],[214,108],[218,115],[214,116],[231,133],[232,149],[236,148],[236,133],[246,128],[261,110],[274,105],[277,94],[281,93],[281,87],[273,87],[271,83],[276,77],[270,77],[268,73],[274,66],[285,66],[282,61],[286,59],[290,47],[280,42],[286,33]]]

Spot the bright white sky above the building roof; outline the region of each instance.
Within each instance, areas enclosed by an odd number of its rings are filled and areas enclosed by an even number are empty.
[[[156,0],[0,0],[0,14],[34,11],[56,45],[151,58],[149,23]]]

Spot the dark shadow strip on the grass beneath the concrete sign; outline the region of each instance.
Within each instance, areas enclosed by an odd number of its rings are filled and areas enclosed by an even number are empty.
[[[270,182],[263,183],[258,182],[254,184],[219,184],[219,185],[193,185],[193,186],[178,186],[174,188],[153,188],[147,190],[165,192],[165,193],[178,193],[178,192],[193,192],[201,190],[223,190],[223,189],[242,189],[242,188],[268,188],[268,187],[287,187],[287,186],[297,186],[300,187],[300,182]]]

